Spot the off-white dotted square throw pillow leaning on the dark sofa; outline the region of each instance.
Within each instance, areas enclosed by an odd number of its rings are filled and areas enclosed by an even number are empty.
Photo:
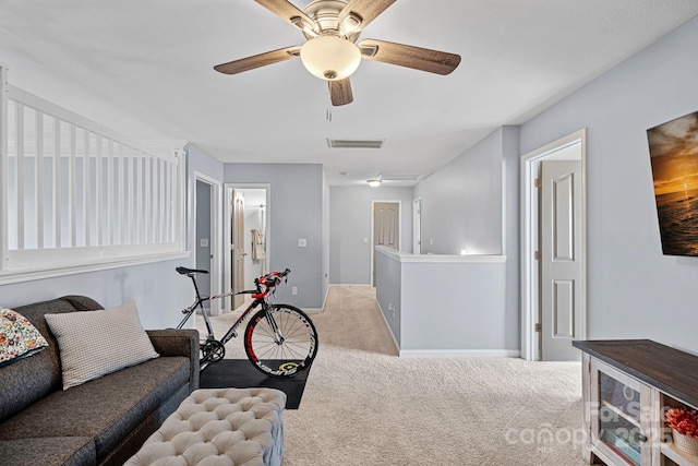
[[[45,318],[58,339],[63,390],[158,357],[133,301]]]

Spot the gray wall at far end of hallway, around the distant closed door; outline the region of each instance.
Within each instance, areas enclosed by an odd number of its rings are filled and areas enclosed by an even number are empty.
[[[412,188],[329,189],[329,277],[333,284],[371,284],[373,201],[400,201],[400,250],[412,250]],[[368,238],[369,242],[363,242]]]

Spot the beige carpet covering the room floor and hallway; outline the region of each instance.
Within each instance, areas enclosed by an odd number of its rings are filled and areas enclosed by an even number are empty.
[[[370,287],[333,286],[312,319],[320,350],[284,414],[284,466],[583,464],[579,363],[398,358]]]

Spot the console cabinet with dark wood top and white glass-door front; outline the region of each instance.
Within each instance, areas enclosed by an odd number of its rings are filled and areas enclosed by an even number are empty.
[[[667,407],[698,408],[698,357],[649,339],[578,340],[585,461],[698,466],[672,443]]]

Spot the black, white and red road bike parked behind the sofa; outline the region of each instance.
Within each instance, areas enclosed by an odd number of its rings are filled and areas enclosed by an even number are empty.
[[[287,276],[291,272],[289,268],[284,272],[272,272],[255,278],[255,289],[230,291],[214,296],[201,296],[196,285],[196,275],[208,274],[208,271],[181,266],[177,267],[176,271],[180,275],[186,275],[192,279],[196,292],[196,299],[192,306],[182,310],[184,318],[177,325],[177,328],[182,328],[196,309],[201,310],[206,323],[208,334],[206,339],[200,344],[202,371],[208,365],[224,359],[226,356],[226,343],[238,336],[240,324],[260,306],[262,309],[252,315],[244,332],[244,350],[250,362],[261,372],[277,378],[293,377],[312,365],[317,355],[318,344],[317,331],[313,321],[294,306],[270,302],[276,287],[282,280],[288,280]],[[208,311],[203,304],[206,301],[232,295],[252,295],[253,301],[228,328],[222,338],[218,340],[214,336]]]

